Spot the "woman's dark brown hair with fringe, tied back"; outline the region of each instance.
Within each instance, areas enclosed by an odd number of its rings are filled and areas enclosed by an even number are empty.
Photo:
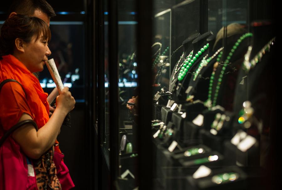
[[[32,37],[37,41],[41,36],[44,40],[50,41],[50,29],[40,18],[20,14],[8,18],[1,27],[0,58],[13,54],[16,38],[29,43]]]

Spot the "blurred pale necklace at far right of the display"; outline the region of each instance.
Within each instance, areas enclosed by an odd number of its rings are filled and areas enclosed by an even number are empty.
[[[245,60],[243,62],[243,69],[248,73],[250,69],[254,68],[257,63],[259,63],[264,56],[265,52],[270,52],[270,45],[273,45],[275,41],[275,37],[272,38],[260,51],[257,53],[252,60],[249,61],[250,54],[252,52],[252,46],[248,47],[248,51],[245,54]]]

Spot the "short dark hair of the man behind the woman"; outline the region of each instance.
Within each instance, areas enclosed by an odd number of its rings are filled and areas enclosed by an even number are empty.
[[[11,12],[32,16],[35,10],[44,12],[50,18],[56,16],[54,9],[45,0],[14,0],[8,12],[8,16]]]

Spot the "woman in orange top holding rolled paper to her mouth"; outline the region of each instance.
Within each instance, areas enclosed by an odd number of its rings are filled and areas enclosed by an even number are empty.
[[[32,124],[26,124],[15,130],[0,147],[0,190],[74,187],[56,138],[75,100],[65,87],[49,119],[48,94],[32,74],[43,70],[51,54],[50,37],[49,27],[36,17],[15,15],[1,28],[0,83],[14,79],[21,85],[9,82],[0,91],[0,138],[25,120],[34,120],[38,131]]]

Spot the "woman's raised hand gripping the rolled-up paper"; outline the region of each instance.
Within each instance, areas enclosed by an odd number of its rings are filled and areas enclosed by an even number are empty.
[[[60,112],[63,112],[66,115],[74,108],[75,103],[76,101],[71,96],[69,88],[65,87],[56,98],[56,109],[59,109]]]

